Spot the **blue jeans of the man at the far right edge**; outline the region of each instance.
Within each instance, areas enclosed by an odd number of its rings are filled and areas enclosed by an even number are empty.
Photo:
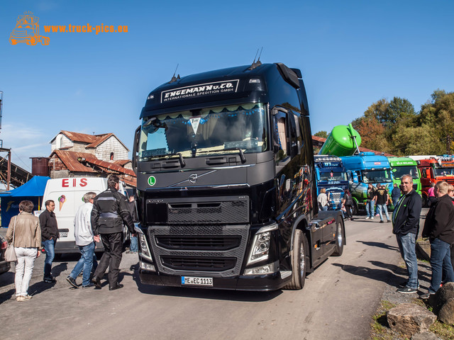
[[[428,293],[436,293],[440,288],[442,273],[445,282],[454,282],[453,265],[451,264],[450,244],[441,239],[431,239],[432,278]]]

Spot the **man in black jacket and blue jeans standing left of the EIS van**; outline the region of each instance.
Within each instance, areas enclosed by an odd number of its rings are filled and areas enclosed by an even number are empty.
[[[55,278],[50,273],[55,257],[55,243],[59,237],[57,217],[55,217],[54,210],[55,202],[53,200],[46,200],[45,210],[40,215],[41,241],[45,249],[43,281],[46,283],[55,282]]]

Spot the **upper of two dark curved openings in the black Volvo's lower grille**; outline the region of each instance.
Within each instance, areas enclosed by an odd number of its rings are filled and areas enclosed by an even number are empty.
[[[165,249],[228,250],[240,245],[240,236],[156,236],[156,244]]]

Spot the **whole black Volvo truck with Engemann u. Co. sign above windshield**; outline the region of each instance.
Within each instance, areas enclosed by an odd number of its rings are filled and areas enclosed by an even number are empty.
[[[261,64],[172,80],[135,130],[140,280],[233,290],[301,289],[345,244],[319,211],[299,69]]]

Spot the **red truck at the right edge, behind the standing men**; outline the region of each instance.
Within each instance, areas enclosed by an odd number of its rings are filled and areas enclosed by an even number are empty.
[[[423,207],[426,207],[428,201],[427,191],[431,187],[431,183],[446,181],[454,185],[454,156],[443,154],[443,156],[419,159],[417,162],[421,173]]]

